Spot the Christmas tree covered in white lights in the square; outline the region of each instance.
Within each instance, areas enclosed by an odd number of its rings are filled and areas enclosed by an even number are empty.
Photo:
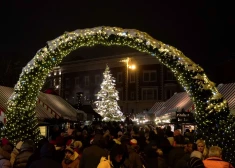
[[[104,121],[120,121],[124,117],[118,105],[119,96],[115,88],[115,79],[112,77],[108,65],[103,76],[101,90],[96,94],[97,101],[95,101],[94,110],[103,117]]]

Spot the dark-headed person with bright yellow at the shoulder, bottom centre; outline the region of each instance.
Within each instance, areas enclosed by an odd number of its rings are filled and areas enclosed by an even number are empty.
[[[108,158],[102,157],[97,168],[120,168],[123,160],[124,149],[120,144],[115,144]]]

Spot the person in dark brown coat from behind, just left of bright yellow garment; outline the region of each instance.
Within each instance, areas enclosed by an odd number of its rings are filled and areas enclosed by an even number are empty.
[[[108,157],[108,152],[104,147],[105,141],[103,136],[96,134],[92,141],[92,146],[84,149],[79,168],[97,168],[101,157]]]

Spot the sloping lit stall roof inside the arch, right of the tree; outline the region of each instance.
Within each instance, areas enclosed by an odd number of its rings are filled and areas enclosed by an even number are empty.
[[[175,93],[170,99],[168,99],[156,112],[156,116],[160,117],[170,112],[181,111],[184,109],[188,111],[193,106],[193,102],[186,92]]]

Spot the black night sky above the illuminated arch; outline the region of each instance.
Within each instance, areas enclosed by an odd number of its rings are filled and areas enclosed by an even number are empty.
[[[65,31],[118,26],[145,31],[175,46],[210,73],[215,65],[235,56],[233,11],[232,1],[1,1],[0,56],[27,63],[47,41]],[[77,52],[95,55],[95,51]]]

